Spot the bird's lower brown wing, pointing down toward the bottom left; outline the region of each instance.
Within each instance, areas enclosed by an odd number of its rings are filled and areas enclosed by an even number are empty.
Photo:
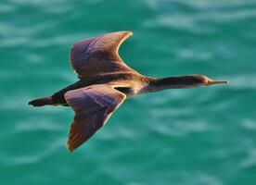
[[[70,126],[68,149],[73,151],[100,129],[125,100],[126,95],[107,84],[92,85],[65,93],[75,112]]]

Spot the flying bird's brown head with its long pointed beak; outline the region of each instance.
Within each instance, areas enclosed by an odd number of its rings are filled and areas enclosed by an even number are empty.
[[[192,75],[189,76],[189,79],[192,83],[197,84],[198,86],[208,86],[208,85],[214,85],[214,84],[220,84],[220,83],[228,83],[227,80],[211,80],[210,78],[204,76],[204,75]]]

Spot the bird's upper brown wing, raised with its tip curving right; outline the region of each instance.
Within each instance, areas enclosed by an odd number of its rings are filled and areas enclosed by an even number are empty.
[[[71,67],[80,79],[116,71],[135,72],[118,54],[122,42],[131,35],[133,32],[118,31],[74,43],[70,50]]]

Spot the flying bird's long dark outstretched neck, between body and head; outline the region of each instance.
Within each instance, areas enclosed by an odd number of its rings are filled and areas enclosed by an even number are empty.
[[[147,86],[141,93],[159,92],[166,89],[196,88],[201,86],[193,76],[167,77],[154,79],[149,78]]]

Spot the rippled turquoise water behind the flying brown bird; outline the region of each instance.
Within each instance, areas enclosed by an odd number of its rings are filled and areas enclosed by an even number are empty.
[[[255,184],[255,22],[252,0],[2,0],[0,184]],[[70,108],[27,102],[77,80],[71,44],[109,31],[134,32],[120,54],[142,74],[230,84],[130,99],[70,154]]]

